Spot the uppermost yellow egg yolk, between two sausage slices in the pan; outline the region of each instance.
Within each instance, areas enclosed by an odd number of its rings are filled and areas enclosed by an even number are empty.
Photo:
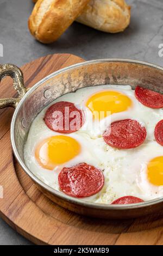
[[[131,99],[120,92],[103,91],[93,94],[86,102],[94,119],[103,119],[113,113],[126,111],[132,105]]]

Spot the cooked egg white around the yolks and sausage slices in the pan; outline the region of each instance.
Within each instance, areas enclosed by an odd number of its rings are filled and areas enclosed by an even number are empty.
[[[101,120],[93,121],[91,111],[85,106],[92,94],[102,90],[116,90],[130,97],[133,105],[127,111],[115,113]],[[34,150],[40,141],[45,138],[59,135],[46,126],[43,117],[47,108],[59,101],[69,101],[77,108],[83,109],[85,123],[79,131],[68,133],[65,136],[75,138],[82,146],[80,155],[53,171],[43,169],[35,160]],[[119,150],[110,147],[103,140],[106,124],[122,119],[136,119],[146,127],[145,142],[135,149]],[[58,173],[61,168],[74,166],[79,162],[86,162],[102,170],[105,184],[95,196],[82,200],[110,204],[122,196],[136,196],[143,200],[151,200],[163,196],[163,186],[154,186],[147,179],[147,163],[156,156],[163,155],[163,148],[154,138],[155,125],[163,118],[162,109],[152,109],[136,100],[134,90],[130,86],[96,86],[77,90],[75,93],[65,94],[44,108],[35,118],[30,127],[28,138],[24,146],[24,161],[27,167],[45,184],[59,190]],[[63,135],[63,133],[62,133]]]

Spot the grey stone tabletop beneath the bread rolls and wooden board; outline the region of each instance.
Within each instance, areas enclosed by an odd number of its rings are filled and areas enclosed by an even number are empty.
[[[57,42],[43,45],[34,40],[27,27],[32,0],[0,0],[0,63],[21,66],[46,54],[73,53],[86,60],[130,58],[163,65],[163,51],[159,56],[159,45],[163,44],[163,1],[126,2],[132,7],[131,23],[123,33],[106,34],[74,22]],[[9,244],[31,243],[0,218],[0,245]]]

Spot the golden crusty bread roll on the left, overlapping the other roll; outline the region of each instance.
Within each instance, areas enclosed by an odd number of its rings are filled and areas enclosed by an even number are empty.
[[[88,2],[89,0],[38,0],[29,17],[29,30],[40,42],[54,42],[82,13]]]

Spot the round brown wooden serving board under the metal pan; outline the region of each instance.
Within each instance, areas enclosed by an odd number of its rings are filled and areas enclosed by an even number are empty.
[[[54,54],[22,66],[26,87],[52,72],[83,59]],[[10,78],[0,85],[0,97],[16,96]],[[12,108],[0,111],[1,217],[37,245],[161,245],[163,211],[133,220],[107,221],[83,217],[54,204],[44,196],[15,160],[10,143]]]

